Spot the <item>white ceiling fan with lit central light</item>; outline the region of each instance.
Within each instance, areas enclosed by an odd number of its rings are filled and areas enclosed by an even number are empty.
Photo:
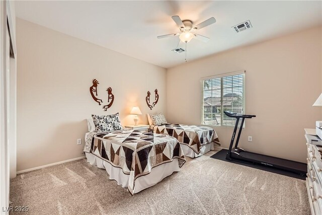
[[[193,23],[191,20],[182,21],[179,16],[173,16],[172,19],[173,21],[175,21],[175,23],[177,23],[180,32],[175,34],[166,34],[162,36],[157,36],[157,39],[179,35],[180,40],[184,43],[188,43],[192,38],[196,38],[203,42],[208,42],[209,41],[208,37],[202,36],[200,34],[196,34],[194,32],[208,25],[214,24],[216,22],[216,19],[211,17],[206,21],[203,21],[202,23],[193,26]]]

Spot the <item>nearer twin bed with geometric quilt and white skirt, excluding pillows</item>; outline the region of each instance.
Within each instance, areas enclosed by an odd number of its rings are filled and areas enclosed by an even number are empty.
[[[106,169],[132,195],[180,171],[186,162],[176,138],[130,129],[86,133],[84,151],[91,165]]]

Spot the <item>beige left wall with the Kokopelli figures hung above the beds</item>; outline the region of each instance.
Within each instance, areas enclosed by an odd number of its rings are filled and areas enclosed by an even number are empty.
[[[18,144],[17,171],[83,156],[86,118],[120,112],[122,125],[133,124],[132,106],[143,115],[165,111],[166,69],[83,40],[17,19]],[[115,95],[107,112],[93,101],[89,88],[100,82]],[[146,92],[158,89],[152,111]],[[151,97],[153,98],[153,96]],[[76,139],[82,138],[82,145]]]

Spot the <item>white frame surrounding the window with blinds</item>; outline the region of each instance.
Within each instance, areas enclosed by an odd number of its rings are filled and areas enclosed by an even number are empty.
[[[206,81],[206,80],[211,80],[211,79],[218,79],[218,78],[224,78],[224,77],[229,77],[229,76],[235,76],[235,75],[244,75],[244,85],[243,85],[243,114],[245,114],[245,108],[246,108],[246,93],[245,93],[245,86],[246,86],[246,71],[245,70],[238,70],[238,71],[233,71],[232,73],[224,73],[224,74],[219,74],[219,75],[216,75],[216,76],[207,76],[207,77],[203,77],[200,79],[200,90],[201,90],[201,111],[200,111],[200,120],[201,120],[201,125],[205,125],[205,126],[215,126],[215,127],[234,127],[235,125],[224,125],[222,124],[222,121],[220,120],[220,124],[219,125],[209,125],[209,124],[205,124],[204,123],[204,120],[203,120],[203,111],[204,111],[204,101],[203,101],[203,85],[202,85],[202,82],[203,81]],[[221,114],[220,114],[221,115]],[[240,125],[240,123],[239,123]],[[238,126],[239,127],[239,126]],[[244,125],[243,125],[243,128],[245,128],[245,122],[244,122]]]

